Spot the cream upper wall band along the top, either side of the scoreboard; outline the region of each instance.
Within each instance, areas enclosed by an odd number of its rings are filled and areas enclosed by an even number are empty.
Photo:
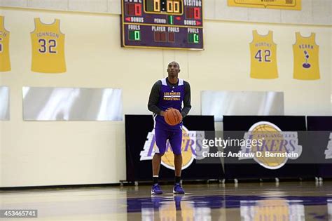
[[[228,0],[203,0],[205,19],[284,24],[332,25],[331,0],[301,0],[300,11],[228,7]],[[121,13],[120,0],[0,0],[0,6],[57,11]]]

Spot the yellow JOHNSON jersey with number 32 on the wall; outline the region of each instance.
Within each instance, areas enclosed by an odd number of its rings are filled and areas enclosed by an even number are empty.
[[[31,33],[32,72],[66,72],[64,34],[60,32],[60,20],[43,24],[40,18],[35,18],[34,25],[34,32]]]

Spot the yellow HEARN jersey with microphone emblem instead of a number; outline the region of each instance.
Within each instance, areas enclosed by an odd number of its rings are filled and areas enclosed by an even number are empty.
[[[300,32],[296,32],[296,43],[293,45],[294,79],[320,79],[319,46],[317,46],[315,38],[316,34],[314,33],[309,37],[303,37]]]

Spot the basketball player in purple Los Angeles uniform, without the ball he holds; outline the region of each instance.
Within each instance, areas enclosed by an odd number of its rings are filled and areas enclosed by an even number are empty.
[[[184,194],[184,189],[180,185],[182,122],[175,126],[170,126],[165,122],[164,116],[165,111],[171,107],[178,109],[182,118],[188,114],[191,109],[191,86],[188,82],[178,78],[180,66],[177,62],[170,62],[167,72],[167,78],[155,82],[148,98],[148,110],[153,112],[155,121],[155,143],[157,145],[152,159],[153,186],[151,194],[162,194],[162,190],[158,185],[158,175],[161,157],[165,154],[167,140],[169,140],[174,154],[175,179],[173,193]]]

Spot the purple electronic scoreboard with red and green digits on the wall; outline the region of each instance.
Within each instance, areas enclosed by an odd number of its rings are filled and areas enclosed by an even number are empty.
[[[203,49],[202,0],[121,0],[121,44]]]

